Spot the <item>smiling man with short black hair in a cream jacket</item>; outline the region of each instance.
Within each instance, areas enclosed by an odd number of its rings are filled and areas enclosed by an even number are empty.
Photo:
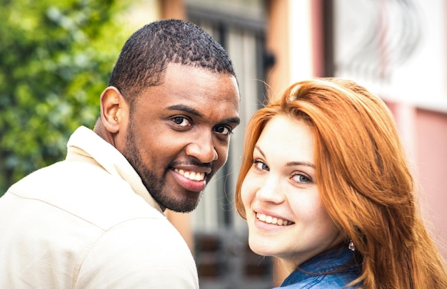
[[[94,131],[0,199],[0,288],[198,288],[165,209],[188,212],[238,125],[231,61],[194,24],[157,21],[122,48]]]

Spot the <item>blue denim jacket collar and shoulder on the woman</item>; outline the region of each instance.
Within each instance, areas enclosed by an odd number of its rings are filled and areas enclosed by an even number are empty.
[[[281,284],[281,288],[343,288],[344,285],[358,278],[361,274],[361,267],[353,263],[353,257],[353,251],[347,247],[323,252],[302,263],[299,269],[288,275]],[[341,271],[324,274],[333,270]]]

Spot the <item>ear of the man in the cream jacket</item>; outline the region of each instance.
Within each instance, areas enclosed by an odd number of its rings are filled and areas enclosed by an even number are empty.
[[[124,117],[126,117],[128,105],[123,95],[114,86],[109,86],[101,94],[100,103],[104,127],[111,133],[119,132],[120,127],[127,121]]]

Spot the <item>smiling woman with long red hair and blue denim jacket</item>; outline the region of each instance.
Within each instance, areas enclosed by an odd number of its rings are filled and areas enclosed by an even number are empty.
[[[286,288],[447,288],[393,117],[336,78],[291,85],[246,130],[236,208]]]

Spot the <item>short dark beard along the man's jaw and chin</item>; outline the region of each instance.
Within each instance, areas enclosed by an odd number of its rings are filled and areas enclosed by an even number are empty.
[[[159,205],[163,208],[170,209],[172,211],[180,213],[188,213],[194,211],[199,204],[199,199],[176,197],[175,192],[167,191],[166,189],[166,175],[169,172],[169,168],[173,167],[170,164],[164,169],[164,173],[157,177],[153,169],[150,169],[144,162],[141,161],[141,154],[136,147],[134,129],[132,127],[132,121],[129,120],[129,127],[127,127],[126,148],[123,152],[124,157],[134,167],[137,174],[141,178],[149,194],[155,199]],[[171,193],[171,194],[170,194]]]

